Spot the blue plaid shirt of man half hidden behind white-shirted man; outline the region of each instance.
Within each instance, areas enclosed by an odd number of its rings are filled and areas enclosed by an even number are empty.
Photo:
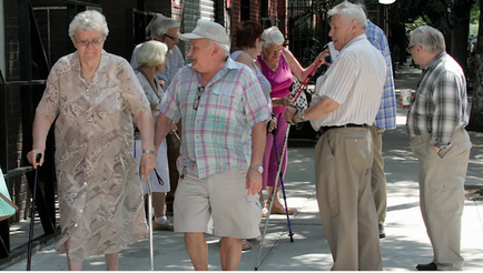
[[[383,97],[381,99],[379,111],[377,112],[376,124],[381,129],[396,128],[396,97],[394,93],[393,62],[387,38],[384,31],[367,19],[365,34],[369,42],[383,53],[386,61],[386,82],[384,83]]]

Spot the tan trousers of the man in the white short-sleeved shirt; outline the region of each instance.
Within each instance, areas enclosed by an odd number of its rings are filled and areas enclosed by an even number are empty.
[[[382,270],[371,192],[373,143],[365,128],[332,129],[315,148],[315,185],[332,270]]]

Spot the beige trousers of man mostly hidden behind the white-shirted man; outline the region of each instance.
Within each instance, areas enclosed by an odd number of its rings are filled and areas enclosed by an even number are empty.
[[[379,223],[379,233],[384,233],[384,223],[387,212],[386,195],[386,174],[384,173],[383,158],[383,133],[385,129],[372,125],[371,134],[374,143],[374,161],[371,169],[371,188],[373,191],[374,203],[376,205],[377,221]]]

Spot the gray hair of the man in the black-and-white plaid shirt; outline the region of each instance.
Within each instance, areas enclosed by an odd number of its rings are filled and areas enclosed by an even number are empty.
[[[422,26],[412,31],[410,36],[410,44],[420,44],[426,52],[440,53],[446,50],[446,43],[444,42],[443,33],[433,27]]]

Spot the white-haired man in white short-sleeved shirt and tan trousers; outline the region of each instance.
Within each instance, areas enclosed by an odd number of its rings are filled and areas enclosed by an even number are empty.
[[[329,36],[339,53],[317,79],[310,107],[288,108],[286,120],[312,120],[323,133],[315,148],[315,184],[332,270],[382,270],[369,124],[379,108],[386,64],[364,33],[367,21],[359,6],[345,1],[328,14]]]

